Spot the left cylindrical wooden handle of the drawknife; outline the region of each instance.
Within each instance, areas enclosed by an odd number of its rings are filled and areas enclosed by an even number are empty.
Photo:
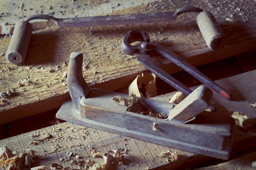
[[[13,35],[6,51],[6,59],[13,64],[24,62],[32,34],[32,25],[28,21],[18,21],[15,24]]]

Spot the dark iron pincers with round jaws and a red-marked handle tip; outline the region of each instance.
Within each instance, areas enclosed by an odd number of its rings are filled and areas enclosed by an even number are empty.
[[[132,43],[139,41],[137,45],[132,45]],[[129,55],[137,55],[137,60],[146,68],[148,68],[150,71],[155,73],[159,78],[164,80],[169,85],[176,88],[178,91],[182,92],[185,95],[189,95],[192,90],[179,81],[172,77],[171,75],[167,74],[163,69],[159,68],[157,65],[155,65],[151,59],[150,55],[148,53],[150,51],[157,51],[162,56],[166,57],[170,61],[172,61],[174,64],[176,64],[178,67],[184,69],[188,73],[190,73],[192,76],[197,78],[200,82],[220,94],[222,97],[224,97],[227,100],[231,99],[231,94],[222,88],[220,85],[215,83],[214,81],[210,80],[208,77],[206,77],[204,74],[202,74],[199,70],[194,68],[191,64],[183,60],[182,58],[178,57],[174,53],[172,53],[167,48],[163,47],[159,43],[152,43],[150,42],[149,35],[140,30],[131,30],[127,32],[124,35],[121,49],[124,53]]]

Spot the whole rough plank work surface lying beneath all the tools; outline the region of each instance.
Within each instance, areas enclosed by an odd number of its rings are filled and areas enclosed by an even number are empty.
[[[61,5],[58,4],[59,1],[62,2]],[[44,26],[53,26],[53,24],[49,22],[34,23],[33,28],[36,31],[32,34],[27,57],[22,66],[16,66],[6,61],[4,53],[7,50],[10,37],[2,36],[0,38],[0,92],[11,90],[14,94],[12,98],[0,102],[0,124],[58,108],[68,100],[70,97],[67,91],[66,71],[69,55],[73,51],[82,52],[84,55],[83,75],[90,86],[108,90],[118,90],[128,86],[139,73],[145,71],[136,57],[125,55],[120,50],[124,34],[131,29],[146,31],[150,35],[151,41],[167,46],[194,66],[256,49],[256,2],[253,0],[243,0],[242,2],[240,0],[232,2],[229,0],[221,2],[218,0],[191,0],[182,3],[176,0],[142,0],[139,3],[138,0],[129,2],[94,0],[88,1],[86,4],[82,0],[68,2],[40,0],[37,2],[38,5],[30,0],[24,0],[22,4],[12,2],[12,0],[2,0],[1,3],[3,5],[0,6],[0,9],[2,8],[4,13],[0,14],[1,27],[4,22],[9,21],[9,24],[13,24],[19,18],[23,19],[24,16],[36,13],[51,14],[55,17],[84,17],[168,11],[194,5],[214,14],[227,37],[227,45],[219,51],[209,50],[197,27],[196,14],[184,14],[179,16],[176,21],[168,23],[115,27],[74,29],[50,27],[42,29]],[[14,6],[17,9],[7,14]],[[12,17],[12,15],[18,17]],[[168,73],[180,70],[161,56],[152,58]],[[233,95],[233,101],[226,101],[214,94],[213,98],[218,111],[223,113],[230,113],[230,110],[238,111],[246,113],[251,118],[256,118],[256,107],[251,106],[256,102],[256,70],[218,80],[217,83],[230,90]],[[155,99],[168,101],[173,94],[158,96]],[[32,142],[32,136],[35,134],[39,134],[39,136],[49,134],[50,137],[35,145],[35,142]],[[255,147],[254,143],[246,140],[255,136],[253,132],[245,133],[238,128],[234,146],[239,149],[235,148],[234,151]],[[239,144],[240,147],[238,147]],[[66,153],[72,152],[83,156],[85,161],[94,160],[91,154],[92,148],[103,153],[111,149],[127,149],[125,165],[118,165],[117,170],[183,169],[212,160],[210,157],[69,122],[0,140],[0,146],[3,145],[17,153],[22,153],[25,149],[36,151],[36,162],[32,167],[58,163],[65,167],[76,168],[78,167],[74,164],[76,157],[68,157]],[[178,159],[175,162],[167,162],[166,157],[157,156],[167,151],[176,152]],[[251,162],[255,159],[254,157],[255,153],[251,153],[214,167],[202,169],[223,169],[223,167],[252,169]]]

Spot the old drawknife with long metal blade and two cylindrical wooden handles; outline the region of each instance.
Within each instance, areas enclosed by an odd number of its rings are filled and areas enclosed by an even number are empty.
[[[216,50],[224,46],[225,36],[218,26],[216,19],[210,12],[203,11],[197,7],[184,7],[171,12],[96,17],[55,18],[48,15],[33,15],[28,17],[25,21],[19,21],[16,23],[11,42],[5,56],[6,59],[13,64],[19,65],[24,62],[32,34],[32,25],[29,21],[33,19],[47,19],[54,22],[58,27],[93,27],[100,25],[167,22],[174,20],[178,15],[187,12],[199,13],[197,16],[197,24],[210,49]]]

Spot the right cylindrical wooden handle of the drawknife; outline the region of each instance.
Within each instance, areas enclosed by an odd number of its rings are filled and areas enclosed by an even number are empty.
[[[218,50],[225,46],[225,35],[212,13],[209,11],[199,13],[197,16],[197,25],[210,49]]]

